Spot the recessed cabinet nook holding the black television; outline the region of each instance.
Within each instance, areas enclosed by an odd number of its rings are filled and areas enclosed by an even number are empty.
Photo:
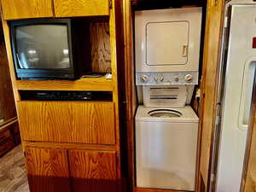
[[[108,22],[104,17],[9,21],[16,79],[75,80],[110,74]]]

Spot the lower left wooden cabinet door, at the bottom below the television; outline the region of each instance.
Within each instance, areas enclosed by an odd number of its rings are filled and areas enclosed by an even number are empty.
[[[31,192],[70,192],[67,150],[26,148]]]

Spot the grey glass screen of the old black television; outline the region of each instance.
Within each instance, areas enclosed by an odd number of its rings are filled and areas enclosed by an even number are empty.
[[[68,69],[67,25],[15,26],[15,54],[20,69]]]

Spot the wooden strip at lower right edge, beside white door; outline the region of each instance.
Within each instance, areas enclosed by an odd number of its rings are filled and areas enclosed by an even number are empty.
[[[256,73],[255,73],[256,74]],[[256,75],[254,74],[250,124],[247,131],[247,149],[241,182],[241,192],[256,192]]]

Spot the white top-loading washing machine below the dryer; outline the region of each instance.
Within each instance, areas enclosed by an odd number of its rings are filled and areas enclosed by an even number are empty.
[[[190,106],[139,106],[136,115],[137,187],[195,190],[198,122]]]

